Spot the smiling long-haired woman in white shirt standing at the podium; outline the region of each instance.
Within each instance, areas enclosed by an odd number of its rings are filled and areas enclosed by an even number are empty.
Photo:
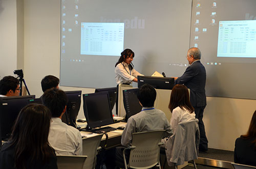
[[[130,49],[126,49],[121,53],[121,56],[115,65],[115,79],[117,84],[131,84],[132,82],[138,82],[137,77],[143,76],[134,69],[132,63],[134,56],[134,52]]]

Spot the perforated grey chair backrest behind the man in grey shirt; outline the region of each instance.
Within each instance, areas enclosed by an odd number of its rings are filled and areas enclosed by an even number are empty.
[[[133,133],[129,167],[150,168],[159,162],[160,146],[165,130]]]

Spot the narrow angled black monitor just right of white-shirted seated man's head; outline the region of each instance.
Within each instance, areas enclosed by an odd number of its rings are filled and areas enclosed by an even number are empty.
[[[76,117],[80,110],[81,106],[81,90],[78,91],[65,91],[68,97],[67,110],[65,114],[62,115],[62,122],[67,125],[73,126],[75,128],[79,128],[76,125]]]

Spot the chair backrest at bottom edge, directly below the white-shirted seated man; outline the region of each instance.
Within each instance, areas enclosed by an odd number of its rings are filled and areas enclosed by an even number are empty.
[[[87,156],[57,156],[58,169],[82,169]]]

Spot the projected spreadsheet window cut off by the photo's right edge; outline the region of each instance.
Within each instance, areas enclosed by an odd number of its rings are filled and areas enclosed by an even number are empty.
[[[220,21],[217,57],[256,57],[256,20]]]

